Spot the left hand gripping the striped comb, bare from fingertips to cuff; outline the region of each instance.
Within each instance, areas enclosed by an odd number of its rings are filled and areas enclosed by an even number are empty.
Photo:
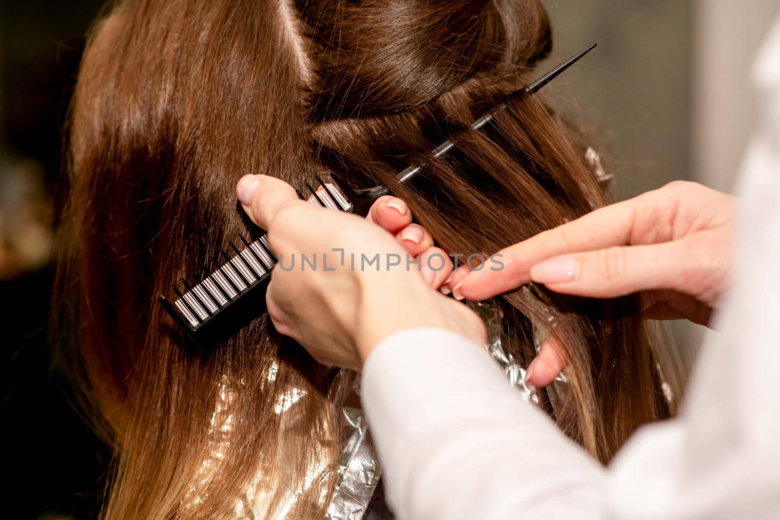
[[[382,197],[363,219],[300,200],[292,186],[267,175],[245,175],[236,195],[268,231],[279,259],[266,292],[268,316],[320,363],[360,370],[379,341],[415,327],[449,329],[477,345],[487,341],[480,317],[435,290],[452,264],[440,271],[426,272],[425,262],[420,270],[407,268],[407,254],[446,255],[424,228],[411,224],[402,200]],[[316,267],[301,255],[316,259]],[[361,268],[361,255],[378,255],[379,263]]]

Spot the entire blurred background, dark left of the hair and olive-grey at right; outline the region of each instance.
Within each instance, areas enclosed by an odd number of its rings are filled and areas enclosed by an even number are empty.
[[[673,179],[732,189],[754,119],[746,76],[776,0],[542,1],[555,30],[551,62],[599,43],[545,90],[590,131],[620,197]],[[69,405],[46,329],[61,129],[102,3],[0,6],[6,518],[94,518],[110,459]],[[672,334],[693,352],[700,329],[676,324]]]

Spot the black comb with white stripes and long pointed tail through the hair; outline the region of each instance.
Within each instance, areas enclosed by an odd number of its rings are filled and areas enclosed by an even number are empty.
[[[516,94],[525,92],[534,95],[542,87],[554,80],[558,74],[568,69],[570,65],[590,52],[596,44],[562,62],[541,76],[534,83],[517,90],[506,97],[506,101],[486,112],[472,122],[472,129],[480,129],[495,117],[496,111],[505,107]],[[441,157],[456,147],[456,143],[446,140],[432,150],[432,157]],[[409,182],[424,167],[424,164],[410,165],[397,176],[398,182]],[[379,197],[390,194],[385,186],[374,186],[368,189],[355,189],[331,172],[331,179],[317,177],[317,188],[306,185],[309,196],[298,193],[301,199],[317,206],[332,210],[342,210],[360,215],[367,211]],[[224,249],[218,251],[218,256],[211,256],[211,267],[200,264],[200,273],[191,272],[191,281],[180,278],[184,291],[173,285],[176,299],[171,302],[160,295],[160,302],[182,328],[187,336],[197,345],[203,347],[220,341],[234,334],[238,327],[257,317],[265,305],[265,288],[271,278],[271,270],[277,259],[268,244],[265,233],[246,239],[239,235],[240,243],[229,241],[232,256]]]

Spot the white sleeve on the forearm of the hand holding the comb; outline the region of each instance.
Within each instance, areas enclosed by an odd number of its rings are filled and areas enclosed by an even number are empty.
[[[361,394],[398,518],[602,517],[605,470],[463,336],[385,338]]]

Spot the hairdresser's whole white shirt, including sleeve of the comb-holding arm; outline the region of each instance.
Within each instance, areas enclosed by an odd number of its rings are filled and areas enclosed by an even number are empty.
[[[780,518],[780,18],[753,82],[734,287],[678,419],[640,428],[605,468],[439,329],[385,338],[362,399],[400,520]]]

